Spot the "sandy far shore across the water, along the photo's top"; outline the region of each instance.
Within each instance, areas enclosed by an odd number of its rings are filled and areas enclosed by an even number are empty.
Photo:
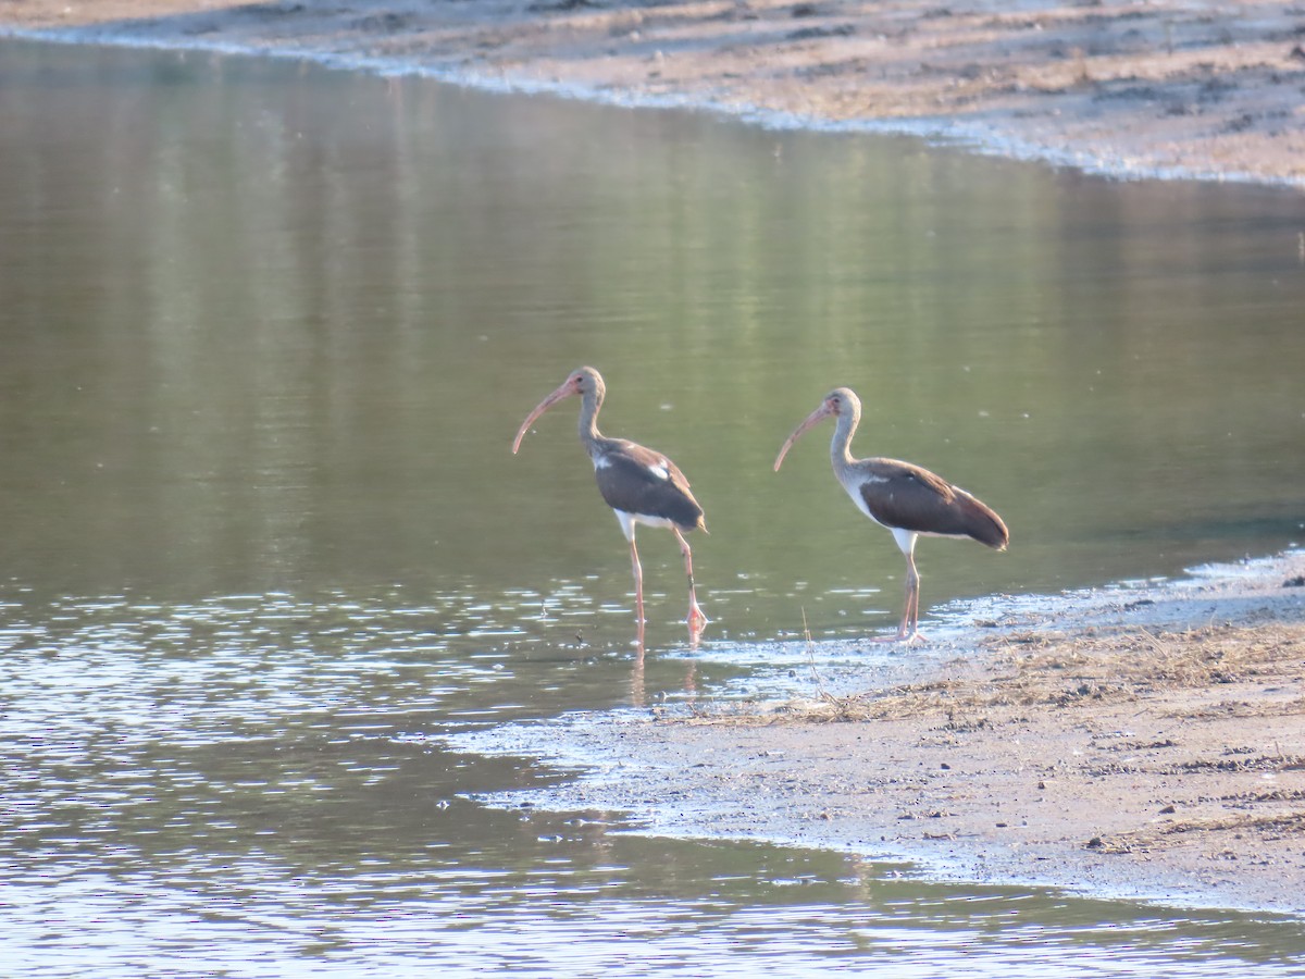
[[[0,0],[0,31],[389,63],[467,84],[1305,187],[1305,5],[1227,0]]]

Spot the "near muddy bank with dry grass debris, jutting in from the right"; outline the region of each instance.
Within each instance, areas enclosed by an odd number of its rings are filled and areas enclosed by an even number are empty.
[[[1023,604],[861,684],[847,644],[776,647],[787,696],[459,745],[578,773],[502,805],[906,858],[951,880],[1305,912],[1305,552]]]

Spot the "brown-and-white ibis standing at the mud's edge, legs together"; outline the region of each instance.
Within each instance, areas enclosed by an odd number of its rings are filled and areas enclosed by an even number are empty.
[[[920,534],[968,536],[1005,551],[1010,531],[990,506],[927,469],[889,458],[853,459],[852,433],[861,420],[861,402],[847,388],[826,394],[821,406],[788,436],[775,459],[776,473],[799,436],[830,416],[835,426],[829,445],[834,475],[861,513],[893,531],[906,555],[906,611],[898,634],[885,641],[911,641],[919,636],[920,621],[920,573],[915,569],[915,542]]]

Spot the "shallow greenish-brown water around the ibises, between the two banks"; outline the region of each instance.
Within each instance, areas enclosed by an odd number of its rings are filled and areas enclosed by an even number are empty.
[[[779,444],[1011,526],[924,604],[1301,539],[1297,196],[1111,184],[679,112],[200,54],[0,48],[0,911],[48,974],[1287,974],[1296,923],[927,885],[465,794],[441,731],[711,693],[739,641],[859,636],[900,557]],[[572,407],[693,480],[628,555]],[[632,946],[617,942],[633,942]],[[1065,948],[1075,950],[1066,961]],[[619,950],[617,950],[619,949]],[[907,971],[902,971],[907,970]]]

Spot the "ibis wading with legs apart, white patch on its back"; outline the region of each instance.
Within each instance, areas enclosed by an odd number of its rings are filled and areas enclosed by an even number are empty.
[[[512,452],[517,453],[526,431],[544,411],[564,398],[579,396],[579,440],[594,463],[599,492],[603,493],[607,505],[616,510],[616,520],[621,522],[625,539],[630,542],[639,634],[642,636],[643,629],[643,569],[639,567],[639,552],[634,547],[634,527],[645,523],[650,527],[669,529],[680,542],[684,572],[689,576],[689,630],[697,636],[706,625],[707,616],[698,608],[698,599],[694,595],[693,552],[684,539],[684,531],[698,527],[706,531],[702,508],[689,492],[689,480],[684,478],[684,473],[666,456],[625,439],[608,439],[598,431],[598,411],[603,407],[606,393],[603,376],[592,367],[572,371],[562,385],[540,401],[521,423]]]

